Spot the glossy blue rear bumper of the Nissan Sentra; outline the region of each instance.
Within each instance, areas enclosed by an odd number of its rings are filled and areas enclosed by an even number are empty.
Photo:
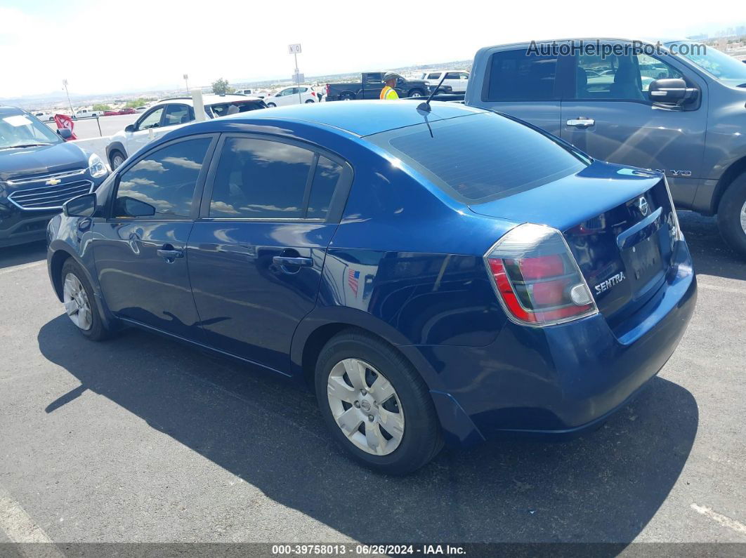
[[[446,439],[504,432],[563,436],[602,422],[668,361],[692,317],[697,282],[682,241],[665,285],[620,332],[601,314],[547,328],[507,323],[484,347],[419,346]]]

